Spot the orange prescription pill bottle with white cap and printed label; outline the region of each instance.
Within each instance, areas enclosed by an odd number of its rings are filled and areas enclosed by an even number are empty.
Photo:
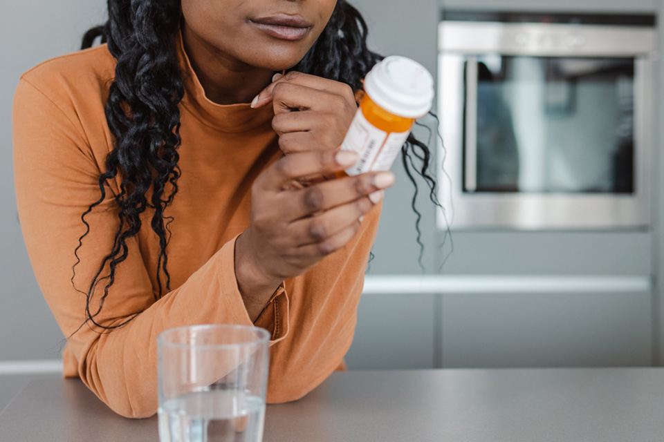
[[[434,99],[432,75],[406,57],[386,57],[367,74],[364,85],[365,96],[341,145],[360,156],[346,169],[348,175],[388,171],[415,120],[431,110]]]

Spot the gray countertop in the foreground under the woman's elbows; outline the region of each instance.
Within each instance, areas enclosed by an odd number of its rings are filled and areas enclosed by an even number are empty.
[[[265,442],[660,441],[664,369],[443,369],[335,373],[269,405]],[[77,380],[35,379],[0,414],[7,441],[158,441]]]

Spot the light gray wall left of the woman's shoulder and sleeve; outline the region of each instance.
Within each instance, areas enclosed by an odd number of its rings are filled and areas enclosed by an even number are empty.
[[[12,174],[12,97],[21,73],[80,47],[103,0],[8,1],[0,26],[0,361],[57,357],[62,333],[42,298],[18,222]],[[48,146],[44,146],[48,148]],[[48,220],[45,220],[48,222]]]

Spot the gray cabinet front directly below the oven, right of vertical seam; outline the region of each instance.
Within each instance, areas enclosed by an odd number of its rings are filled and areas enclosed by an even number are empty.
[[[651,364],[649,293],[446,294],[443,367]]]

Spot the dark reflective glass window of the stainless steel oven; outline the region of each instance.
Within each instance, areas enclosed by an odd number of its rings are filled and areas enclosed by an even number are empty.
[[[486,55],[465,70],[466,88],[477,81],[466,190],[634,193],[634,59]]]

